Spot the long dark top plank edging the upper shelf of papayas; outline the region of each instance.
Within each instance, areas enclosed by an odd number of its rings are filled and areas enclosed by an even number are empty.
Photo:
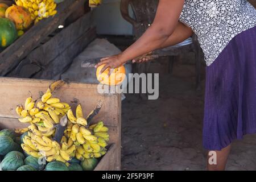
[[[84,4],[85,0],[66,0],[57,6],[58,13],[47,19],[43,19],[40,23],[31,27],[22,37],[16,40],[11,46],[7,47],[0,54],[0,76],[5,76],[20,60],[24,59],[46,38],[53,32],[64,20],[75,11],[78,7]]]

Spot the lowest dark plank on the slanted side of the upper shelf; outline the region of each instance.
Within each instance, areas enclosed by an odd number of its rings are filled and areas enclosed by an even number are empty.
[[[84,50],[84,48],[88,46],[88,44],[95,38],[96,29],[91,28],[88,32],[77,39],[76,42],[65,49],[61,55],[57,56],[56,59],[51,61],[51,63],[43,65],[43,69],[39,73],[36,73],[33,78],[60,78],[61,73],[67,71],[73,59],[75,59],[75,57],[79,55],[79,53],[82,52],[82,50]]]

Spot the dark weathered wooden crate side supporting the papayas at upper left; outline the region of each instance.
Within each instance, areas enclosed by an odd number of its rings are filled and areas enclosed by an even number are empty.
[[[72,60],[96,38],[87,6],[88,0],[61,2],[55,16],[32,26],[0,53],[0,76],[60,77]],[[64,28],[58,28],[60,25]]]

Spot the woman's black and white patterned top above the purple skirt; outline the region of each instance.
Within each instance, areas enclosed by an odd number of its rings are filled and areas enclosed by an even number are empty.
[[[180,21],[198,36],[209,66],[230,40],[256,25],[256,10],[246,0],[185,0]]]

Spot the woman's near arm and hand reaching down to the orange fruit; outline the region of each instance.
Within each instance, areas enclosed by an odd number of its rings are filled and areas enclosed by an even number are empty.
[[[141,38],[121,54],[102,59],[96,67],[106,64],[102,68],[104,72],[106,68],[117,68],[128,60],[160,48],[174,33],[183,5],[184,0],[159,0],[154,22]]]

